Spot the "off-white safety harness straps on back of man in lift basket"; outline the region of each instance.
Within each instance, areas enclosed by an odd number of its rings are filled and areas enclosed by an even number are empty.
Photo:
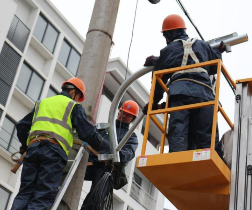
[[[186,41],[183,39],[175,39],[174,41],[182,41],[183,43],[183,47],[184,47],[184,56],[182,59],[182,63],[181,66],[185,66],[187,64],[188,61],[188,57],[189,55],[191,56],[191,58],[194,60],[195,63],[199,63],[199,59],[197,58],[197,56],[195,55],[195,53],[192,50],[192,46],[194,44],[194,42],[197,40],[197,38],[188,38]],[[193,73],[193,72],[204,72],[207,73],[207,71],[201,67],[199,68],[194,68],[194,69],[188,69],[188,70],[182,70],[182,71],[177,71],[175,73],[172,74],[171,78],[177,74],[183,74],[183,73]]]

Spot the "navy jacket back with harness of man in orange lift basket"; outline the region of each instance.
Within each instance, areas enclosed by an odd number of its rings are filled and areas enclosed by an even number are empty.
[[[156,61],[153,71],[180,67],[184,65],[183,63],[185,63],[185,65],[195,63],[195,58],[192,58],[190,54],[188,57],[186,56],[186,53],[188,52],[185,51],[181,40],[189,41],[191,39],[189,39],[185,31],[180,31],[177,34],[174,33],[173,41],[161,50],[160,57]],[[199,63],[221,58],[221,52],[219,50],[213,49],[209,44],[202,40],[196,40],[192,44],[192,51]],[[206,71],[164,75],[162,80],[165,83],[167,83],[170,78],[169,96],[187,95],[200,97],[204,100],[214,100],[209,75],[216,74],[216,66],[207,66],[204,67],[204,70]],[[159,84],[156,84],[154,101],[159,101],[162,97],[162,87]]]

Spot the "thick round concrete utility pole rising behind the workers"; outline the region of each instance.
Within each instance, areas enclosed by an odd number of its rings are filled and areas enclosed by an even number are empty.
[[[107,62],[115,28],[120,0],[96,0],[77,77],[86,85],[85,100],[82,104],[88,119],[96,119],[100,90],[103,86]],[[109,110],[108,110],[109,111]],[[95,149],[95,148],[94,148]],[[70,186],[64,196],[71,210],[77,210],[86,172],[88,155],[83,156]]]

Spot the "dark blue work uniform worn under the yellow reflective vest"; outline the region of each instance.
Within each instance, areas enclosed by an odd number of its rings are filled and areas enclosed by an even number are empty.
[[[71,98],[64,91],[60,95]],[[34,109],[17,123],[17,136],[23,148],[26,147],[33,115]],[[76,128],[79,139],[93,148],[100,146],[102,137],[87,121],[85,110],[80,104],[74,106],[71,122],[72,127]],[[47,140],[31,144],[23,161],[19,193],[11,209],[44,210],[52,206],[67,160],[68,156],[64,150],[56,144]]]

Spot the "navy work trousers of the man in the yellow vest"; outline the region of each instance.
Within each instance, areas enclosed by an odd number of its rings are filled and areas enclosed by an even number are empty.
[[[28,148],[11,210],[44,210],[52,206],[66,161],[48,143]]]

